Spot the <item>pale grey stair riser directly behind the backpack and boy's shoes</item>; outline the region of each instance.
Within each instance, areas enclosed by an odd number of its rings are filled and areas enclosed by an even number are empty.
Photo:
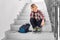
[[[23,24],[17,24],[17,25],[10,25],[10,27],[11,27],[11,30],[12,31],[18,31],[19,30],[19,28],[20,28],[20,26],[22,26]],[[43,29],[42,29],[42,31],[52,31],[52,27],[51,27],[51,25],[50,25],[50,23],[47,23],[47,24],[45,24],[45,26],[43,27]]]

